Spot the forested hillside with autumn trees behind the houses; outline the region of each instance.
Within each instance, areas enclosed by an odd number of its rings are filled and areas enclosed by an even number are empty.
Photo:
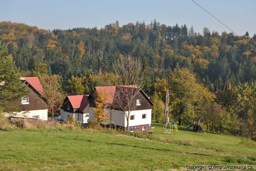
[[[61,75],[67,93],[74,92],[72,85],[77,83],[81,86],[75,93],[81,89],[89,93],[92,86],[103,85],[103,77],[112,76],[116,60],[123,56],[138,58],[147,72],[143,90],[156,103],[164,100],[168,88],[181,92],[171,100],[174,119],[183,119],[188,125],[191,118],[202,113],[180,103],[182,100],[208,110],[204,117],[209,117],[209,129],[255,137],[256,50],[252,46],[256,46],[256,35],[242,35],[250,46],[233,33],[211,33],[205,27],[200,34],[189,27],[175,23],[166,26],[156,20],[149,25],[137,21],[119,26],[116,21],[101,29],[50,31],[1,22],[0,41],[7,45],[24,76]],[[183,76],[189,84],[182,83]],[[163,104],[156,107],[162,110]],[[218,115],[207,116],[211,112]],[[162,118],[156,114],[154,119]]]

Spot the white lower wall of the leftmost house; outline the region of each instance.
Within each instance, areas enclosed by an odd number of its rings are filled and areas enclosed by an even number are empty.
[[[48,120],[48,109],[21,111],[21,112],[15,113],[15,114],[16,114],[15,116],[30,117],[30,118],[32,118],[32,116],[39,115],[39,119],[42,119],[45,121]]]

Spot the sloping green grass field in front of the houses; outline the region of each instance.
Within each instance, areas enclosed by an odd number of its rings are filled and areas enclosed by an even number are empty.
[[[186,170],[197,164],[256,170],[255,142],[184,127],[162,134],[163,124],[152,126],[152,136],[168,143],[88,130],[0,130],[0,170]]]

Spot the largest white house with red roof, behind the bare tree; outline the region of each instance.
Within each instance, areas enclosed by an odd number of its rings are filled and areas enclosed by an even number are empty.
[[[114,121],[116,123],[117,127],[122,127],[124,130],[127,129],[127,119],[124,113],[123,108],[127,109],[127,104],[125,100],[123,100],[122,104],[117,103],[117,100],[121,100],[123,98],[118,98],[122,96],[121,91],[124,89],[130,89],[128,91],[132,91],[134,94],[132,95],[132,111],[130,113],[129,118],[129,131],[135,131],[137,127],[141,125],[145,125],[148,130],[151,130],[151,110],[152,106],[154,104],[152,101],[148,98],[148,96],[137,86],[101,86],[101,87],[95,87],[95,91],[98,92],[104,92],[107,93],[107,100],[105,102],[105,105],[109,106],[109,109],[106,110],[106,113],[108,114],[108,121]],[[90,107],[89,107],[89,120],[95,120],[93,117],[93,105],[95,102],[95,96],[90,95],[88,97],[90,101]],[[128,111],[126,110],[126,113],[128,114]],[[105,124],[105,123],[102,123]]]

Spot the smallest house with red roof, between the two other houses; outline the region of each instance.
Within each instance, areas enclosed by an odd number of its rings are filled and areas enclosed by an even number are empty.
[[[67,122],[71,117],[74,117],[80,123],[87,123],[89,119],[88,96],[69,93],[60,108],[60,119]]]

